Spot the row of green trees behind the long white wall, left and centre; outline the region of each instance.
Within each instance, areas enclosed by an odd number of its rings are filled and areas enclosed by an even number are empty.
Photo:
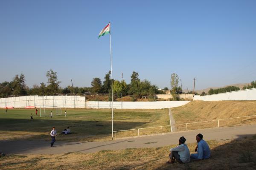
[[[65,88],[60,87],[57,72],[53,70],[47,71],[47,85],[41,82],[40,85],[33,85],[29,88],[25,84],[24,74],[15,75],[11,82],[0,83],[0,95],[53,95],[53,94],[84,94],[84,93],[111,93],[111,71],[109,71],[102,82],[100,78],[93,78],[91,87],[72,87],[68,85]],[[133,95],[136,98],[148,96],[153,98],[155,94],[163,94],[163,91],[157,90],[157,86],[151,85],[148,80],[140,80],[139,73],[131,74],[131,83],[127,84],[124,80],[118,81],[113,79],[113,93],[125,95]]]

